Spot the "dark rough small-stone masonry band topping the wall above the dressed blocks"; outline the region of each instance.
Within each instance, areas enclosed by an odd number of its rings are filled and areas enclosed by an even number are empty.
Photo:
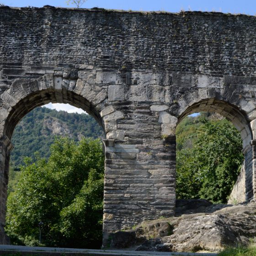
[[[256,75],[255,30],[255,16],[217,12],[0,7],[0,65]]]

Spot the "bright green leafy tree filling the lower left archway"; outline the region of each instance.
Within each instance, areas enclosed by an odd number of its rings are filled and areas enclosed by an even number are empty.
[[[25,159],[7,200],[6,233],[20,245],[99,248],[104,155],[100,139],[56,139],[47,160]]]

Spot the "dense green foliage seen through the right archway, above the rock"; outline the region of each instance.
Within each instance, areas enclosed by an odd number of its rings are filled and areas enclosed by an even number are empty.
[[[185,122],[191,122],[191,118]],[[240,133],[226,119],[197,117],[196,126],[180,128],[177,137],[177,198],[226,203],[243,161]]]

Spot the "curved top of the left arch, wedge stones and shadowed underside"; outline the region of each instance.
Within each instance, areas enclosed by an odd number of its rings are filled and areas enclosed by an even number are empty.
[[[61,76],[53,75],[44,75],[34,80],[16,79],[11,88],[1,95],[4,101],[1,108],[2,135],[11,139],[13,130],[22,117],[33,108],[49,102],[68,103],[82,108],[96,119],[105,132],[104,121],[100,114],[104,107],[101,102],[91,99],[91,96],[96,94],[91,91],[92,95],[90,95],[88,87],[84,80],[64,80]]]

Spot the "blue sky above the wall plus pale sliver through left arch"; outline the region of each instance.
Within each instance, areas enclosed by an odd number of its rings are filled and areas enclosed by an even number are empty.
[[[0,3],[13,7],[43,7],[43,5],[74,7],[67,5],[66,0],[0,0]],[[134,11],[221,11],[256,15],[256,0],[87,0],[82,7]],[[47,107],[67,112],[82,112],[80,109],[67,104],[50,103]]]

